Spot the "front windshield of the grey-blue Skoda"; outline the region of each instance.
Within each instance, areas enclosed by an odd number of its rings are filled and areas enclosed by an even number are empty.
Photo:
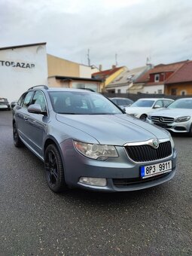
[[[49,92],[53,110],[59,114],[122,114],[112,102],[98,93]]]

